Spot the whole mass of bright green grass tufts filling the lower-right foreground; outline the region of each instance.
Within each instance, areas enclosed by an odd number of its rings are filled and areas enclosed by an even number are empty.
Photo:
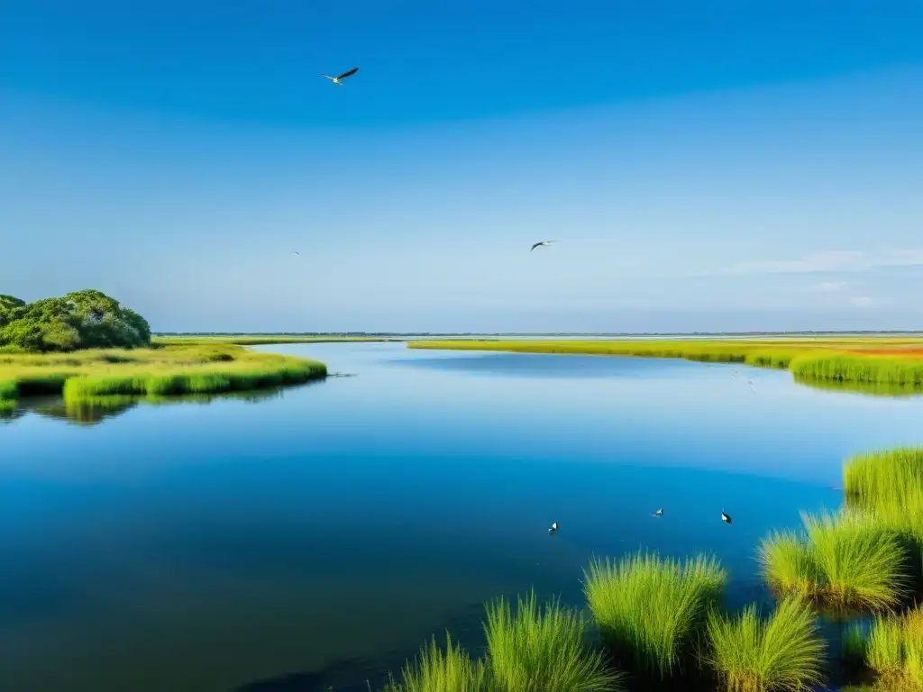
[[[514,614],[500,600],[487,608],[483,659],[450,638],[440,650],[434,639],[389,689],[794,692],[833,673],[923,690],[923,610],[914,597],[923,449],[859,455],[844,475],[846,507],[805,514],[802,531],[774,531],[761,543],[776,595],[769,613],[755,603],[728,612],[728,574],[709,555],[593,558],[584,571],[591,632],[557,602],[543,611],[530,594]],[[853,620],[835,658],[821,636],[825,616]],[[588,636],[595,649],[581,644]]]

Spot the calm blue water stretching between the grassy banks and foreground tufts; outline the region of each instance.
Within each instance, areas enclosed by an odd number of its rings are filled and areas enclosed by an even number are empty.
[[[581,603],[591,555],[640,547],[713,551],[760,599],[761,536],[837,507],[845,456],[923,443],[923,400],[784,372],[264,348],[355,376],[0,424],[0,689],[365,690],[447,626],[479,646],[486,600]]]

